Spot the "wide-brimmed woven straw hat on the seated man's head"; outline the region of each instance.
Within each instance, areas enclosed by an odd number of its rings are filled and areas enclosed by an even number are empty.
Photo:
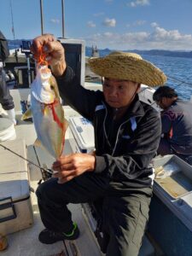
[[[140,55],[114,51],[102,58],[90,58],[90,69],[108,79],[125,79],[150,86],[163,85],[166,75]]]

